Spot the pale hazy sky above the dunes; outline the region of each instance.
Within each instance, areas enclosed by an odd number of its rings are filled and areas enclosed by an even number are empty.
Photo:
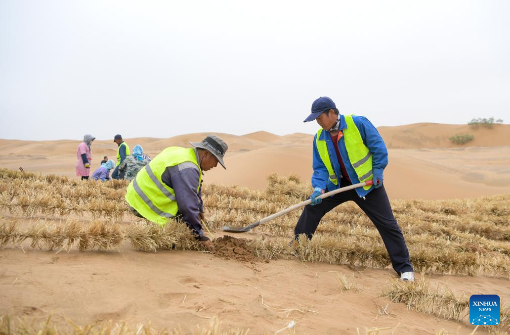
[[[510,1],[0,0],[0,138],[510,123]]]

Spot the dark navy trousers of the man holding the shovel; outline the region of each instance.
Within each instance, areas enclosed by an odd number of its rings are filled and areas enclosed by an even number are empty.
[[[349,185],[351,183],[342,178],[341,187]],[[393,269],[398,274],[413,271],[413,266],[409,260],[409,250],[407,250],[404,236],[400,227],[398,227],[397,220],[393,216],[384,185],[372,189],[365,196],[365,199],[360,198],[358,193],[352,189],[335,194],[333,197],[322,199],[322,202],[318,205],[305,206],[294,229],[294,237],[297,239],[299,234],[307,234],[308,238],[312,238],[322,217],[331,209],[349,200],[355,202],[367,214],[375,228],[379,231],[386,250],[388,250],[390,255]]]

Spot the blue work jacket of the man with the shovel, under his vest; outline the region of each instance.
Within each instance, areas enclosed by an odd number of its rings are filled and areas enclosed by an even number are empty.
[[[352,116],[352,121],[358,130],[360,131],[361,138],[363,139],[363,143],[372,153],[372,171],[374,175],[380,174],[382,175],[382,171],[384,171],[386,165],[388,165],[388,149],[386,149],[386,145],[382,140],[381,135],[375,129],[374,125],[368,121],[367,118],[362,116]],[[340,115],[340,130],[343,132],[344,129],[347,129],[347,124],[345,123],[345,117]],[[314,169],[314,173],[312,175],[312,186],[320,187],[326,191],[332,191],[340,187],[340,178],[338,179],[338,185],[333,184],[329,180],[329,174],[326,169],[326,165],[322,162],[320,158],[319,151],[317,150],[316,144],[317,134],[314,136],[314,146],[313,146],[313,161],[312,167]],[[337,152],[333,145],[333,141],[331,140],[331,135],[328,131],[322,131],[319,140],[326,141],[327,152],[329,153],[329,160],[331,164],[333,164],[333,169],[338,177],[342,176],[342,171],[340,169],[340,163],[338,162]],[[340,156],[342,156],[342,160],[345,165],[345,170],[347,170],[347,174],[349,175],[349,179],[353,184],[357,184],[360,182],[358,175],[354,171],[354,167],[350,163],[349,156],[347,155],[347,150],[345,149],[345,139],[344,136],[340,137],[338,141],[338,151],[340,151]],[[356,192],[358,196],[365,197],[371,190],[373,186],[368,190],[363,189],[363,187],[356,188]]]

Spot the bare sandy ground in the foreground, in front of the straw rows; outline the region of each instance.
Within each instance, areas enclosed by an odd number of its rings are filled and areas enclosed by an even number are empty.
[[[239,237],[239,235],[237,236]],[[246,235],[250,237],[250,235]],[[255,263],[210,254],[169,251],[142,253],[125,244],[119,252],[48,252],[16,247],[0,253],[1,314],[28,319],[54,314],[81,324],[113,320],[146,323],[156,329],[208,324],[252,334],[274,333],[291,320],[298,334],[352,334],[356,328],[392,327],[382,332],[459,334],[473,327],[408,311],[380,297],[391,269],[349,268],[298,260]],[[359,290],[342,290],[338,274]],[[418,275],[419,277],[419,275]],[[498,294],[510,300],[510,282],[493,277],[432,275],[457,295]],[[380,315],[385,308],[388,315]],[[477,333],[483,333],[478,331]]]

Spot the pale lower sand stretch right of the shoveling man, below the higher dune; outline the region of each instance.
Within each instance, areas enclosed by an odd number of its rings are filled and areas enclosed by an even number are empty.
[[[389,152],[385,187],[391,198],[467,198],[510,192],[510,147]]]

